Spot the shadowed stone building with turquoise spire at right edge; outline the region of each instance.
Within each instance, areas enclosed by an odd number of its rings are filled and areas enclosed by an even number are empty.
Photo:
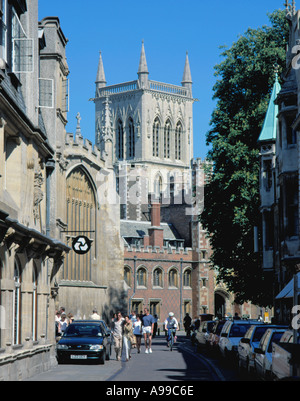
[[[290,25],[286,69],[281,86],[276,78],[259,143],[263,267],[273,280],[274,316],[277,321],[290,324],[293,298],[287,296],[286,289],[289,283],[292,287],[293,276],[300,275],[300,12],[294,1],[286,2],[286,17]]]

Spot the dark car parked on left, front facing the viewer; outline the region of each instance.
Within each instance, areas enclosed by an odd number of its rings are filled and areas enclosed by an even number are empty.
[[[101,364],[110,359],[111,339],[99,321],[71,323],[56,345],[58,363],[74,360],[94,360]]]

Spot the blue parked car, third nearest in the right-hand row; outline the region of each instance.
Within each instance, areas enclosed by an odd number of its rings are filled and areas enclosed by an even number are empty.
[[[265,332],[270,328],[285,328],[278,325],[252,325],[247,333],[241,338],[238,345],[238,366],[239,370],[245,369],[248,373],[254,372],[254,349],[258,348],[259,342]]]

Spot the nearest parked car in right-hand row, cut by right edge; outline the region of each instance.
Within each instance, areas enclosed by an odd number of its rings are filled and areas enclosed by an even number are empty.
[[[279,343],[273,343],[271,370],[274,380],[300,380],[300,335],[294,344],[293,330],[286,330]]]

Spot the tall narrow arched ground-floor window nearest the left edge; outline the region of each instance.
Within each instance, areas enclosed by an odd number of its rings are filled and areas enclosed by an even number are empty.
[[[13,343],[21,344],[21,264],[17,257],[15,258],[14,265],[14,284]]]

